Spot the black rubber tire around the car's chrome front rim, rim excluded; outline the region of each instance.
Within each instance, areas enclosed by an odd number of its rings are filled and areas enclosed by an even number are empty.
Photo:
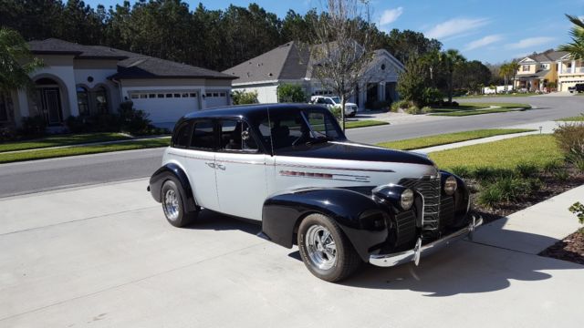
[[[311,229],[311,227],[313,228]],[[311,239],[310,235],[312,234],[312,232],[308,231],[318,230],[318,227],[325,228],[330,233],[336,245],[336,260],[327,269],[318,267],[318,263],[313,261],[314,255],[311,257],[311,252],[308,251],[310,247],[308,246],[308,243],[310,243],[308,239]],[[327,282],[339,282],[349,277],[349,275],[357,271],[362,263],[349,239],[340,230],[339,225],[334,220],[322,214],[310,214],[300,222],[300,227],[298,228],[298,249],[300,250],[300,257],[307,266],[308,271]]]

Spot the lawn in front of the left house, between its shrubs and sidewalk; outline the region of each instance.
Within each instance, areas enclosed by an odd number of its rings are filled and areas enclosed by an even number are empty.
[[[121,133],[110,132],[57,135],[26,141],[0,143],[0,152],[26,149],[43,149],[47,147],[70,146],[89,142],[106,142],[125,139],[130,139],[130,137]]]

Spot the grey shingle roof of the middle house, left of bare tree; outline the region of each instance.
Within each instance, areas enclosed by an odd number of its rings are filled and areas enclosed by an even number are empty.
[[[224,70],[239,77],[234,83],[253,83],[278,79],[300,79],[307,76],[308,49],[295,42],[278,46],[260,56]]]

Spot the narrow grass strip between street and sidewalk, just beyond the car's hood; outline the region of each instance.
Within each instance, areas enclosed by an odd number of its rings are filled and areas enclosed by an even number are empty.
[[[473,140],[477,138],[487,138],[499,135],[506,135],[511,133],[521,133],[534,131],[531,129],[523,128],[491,128],[491,129],[480,129],[474,131],[464,131],[455,133],[446,133],[441,135],[421,137],[421,138],[409,138],[404,140],[382,142],[378,144],[381,147],[387,147],[390,149],[422,149],[433,146],[446,145],[454,142]]]

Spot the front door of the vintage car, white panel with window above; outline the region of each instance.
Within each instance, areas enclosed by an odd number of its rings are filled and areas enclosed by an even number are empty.
[[[262,220],[266,200],[266,155],[257,138],[241,119],[220,119],[220,144],[215,154],[215,174],[221,212]]]

